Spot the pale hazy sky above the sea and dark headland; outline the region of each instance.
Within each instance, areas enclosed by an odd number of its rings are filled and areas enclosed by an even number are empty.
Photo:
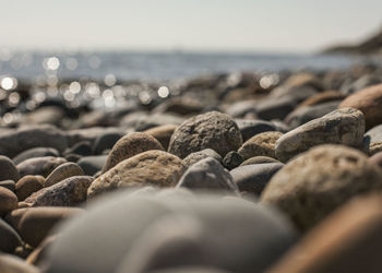
[[[382,0],[0,0],[0,47],[313,51],[382,27]]]

